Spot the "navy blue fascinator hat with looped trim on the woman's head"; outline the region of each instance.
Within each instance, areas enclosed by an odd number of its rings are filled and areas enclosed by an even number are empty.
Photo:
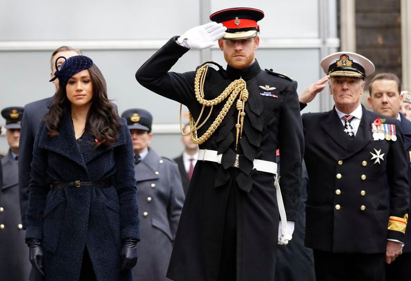
[[[59,78],[60,87],[66,87],[68,79],[70,79],[71,76],[85,69],[89,69],[93,65],[91,58],[85,55],[75,55],[69,58],[59,56],[55,60],[55,69],[58,69],[57,61],[59,61],[59,58],[61,57],[65,59],[65,62],[61,65],[59,70],[54,72],[54,77],[49,81],[52,82]]]

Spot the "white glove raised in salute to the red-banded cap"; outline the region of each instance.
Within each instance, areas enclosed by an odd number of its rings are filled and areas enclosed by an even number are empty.
[[[207,49],[226,35],[227,27],[216,22],[193,27],[177,38],[177,43],[189,49]]]

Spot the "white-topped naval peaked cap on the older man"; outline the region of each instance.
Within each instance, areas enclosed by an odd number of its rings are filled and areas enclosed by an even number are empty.
[[[338,52],[324,57],[320,63],[324,73],[333,76],[365,78],[375,71],[372,62],[357,53]]]

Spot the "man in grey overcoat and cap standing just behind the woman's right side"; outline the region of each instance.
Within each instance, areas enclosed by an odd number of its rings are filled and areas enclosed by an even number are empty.
[[[177,164],[161,157],[149,147],[153,137],[153,116],[144,109],[128,109],[132,134],[140,210],[139,260],[133,268],[134,280],[167,280],[174,237],[184,202],[184,191]],[[137,215],[137,214],[136,214]]]

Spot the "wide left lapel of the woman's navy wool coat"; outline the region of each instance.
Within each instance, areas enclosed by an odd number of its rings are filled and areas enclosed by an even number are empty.
[[[47,130],[47,127],[43,127]],[[49,137],[47,132],[40,134],[39,147],[59,153],[62,156],[72,160],[87,170],[83,155],[77,145],[76,136],[69,112],[66,112],[61,119],[59,135]]]

